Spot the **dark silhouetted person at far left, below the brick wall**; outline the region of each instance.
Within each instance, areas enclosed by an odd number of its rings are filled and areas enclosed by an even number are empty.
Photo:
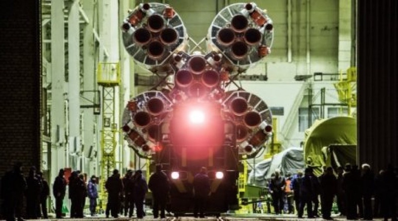
[[[16,218],[18,221],[23,221],[21,210],[26,188],[22,164],[17,162],[13,169],[1,178],[2,210],[5,220],[15,221]]]

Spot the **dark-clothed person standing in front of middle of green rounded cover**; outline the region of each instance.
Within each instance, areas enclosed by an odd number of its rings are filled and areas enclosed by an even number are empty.
[[[331,211],[333,205],[333,198],[337,192],[337,179],[333,174],[333,168],[327,167],[325,174],[321,175],[319,178],[321,186],[321,210],[322,218],[324,220],[333,220],[331,218]]]

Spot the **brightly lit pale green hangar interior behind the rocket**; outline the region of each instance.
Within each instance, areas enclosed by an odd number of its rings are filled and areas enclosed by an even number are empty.
[[[213,18],[241,1],[151,2],[172,6],[187,29],[187,51],[205,54]],[[229,89],[243,88],[267,102],[273,136],[264,151],[246,160],[247,170],[289,148],[307,149],[306,131],[316,120],[345,116],[350,120],[343,118],[339,124],[351,125],[348,133],[354,134],[351,143],[337,139],[322,147],[357,145],[356,1],[254,2],[273,21],[271,53],[240,74]],[[41,1],[41,169],[48,180],[53,181],[60,168],[106,175],[106,149],[113,151],[112,167],[122,174],[142,169],[149,175],[148,160],[129,147],[121,130],[127,102],[161,80],[135,63],[123,46],[122,22],[143,3],[148,1]],[[338,126],[330,130],[338,131]],[[330,134],[323,130],[323,136]]]

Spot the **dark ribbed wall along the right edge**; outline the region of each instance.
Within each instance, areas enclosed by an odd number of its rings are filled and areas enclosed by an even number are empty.
[[[358,0],[359,162],[398,166],[398,1]]]

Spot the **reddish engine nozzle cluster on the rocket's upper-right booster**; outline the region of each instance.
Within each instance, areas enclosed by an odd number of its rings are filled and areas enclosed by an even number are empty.
[[[267,46],[261,45],[263,34],[260,30],[272,31],[273,25],[272,23],[267,23],[267,19],[257,10],[254,10],[253,4],[247,3],[245,8],[259,28],[250,27],[249,21],[244,14],[236,14],[232,17],[227,27],[218,31],[216,35],[217,42],[222,47],[230,47],[231,56],[236,60],[240,60],[248,54],[248,46],[258,45],[259,57],[267,56]]]

